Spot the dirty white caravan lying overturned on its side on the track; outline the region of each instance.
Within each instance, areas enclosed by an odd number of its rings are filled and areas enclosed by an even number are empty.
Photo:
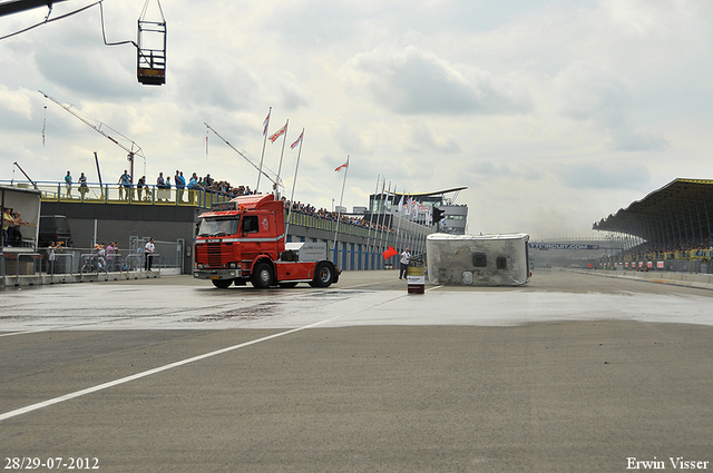
[[[426,239],[431,284],[521,286],[530,280],[529,235],[431,234]]]

